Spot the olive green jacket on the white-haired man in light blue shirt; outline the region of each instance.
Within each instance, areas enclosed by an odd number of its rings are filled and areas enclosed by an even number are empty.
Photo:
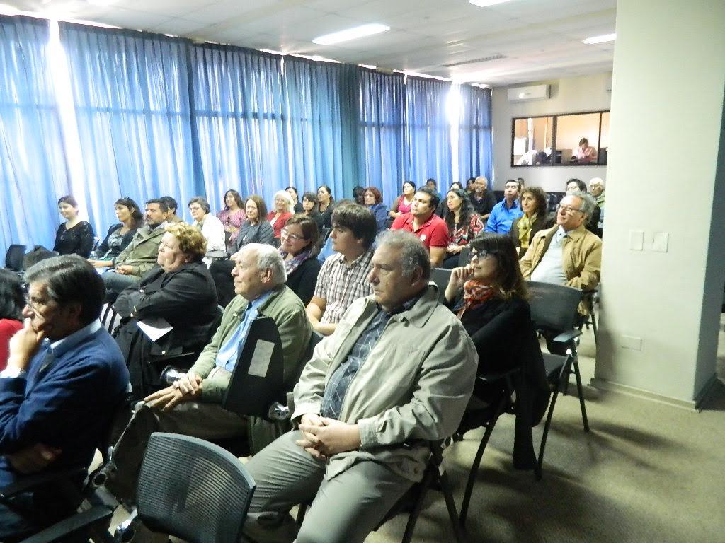
[[[202,354],[191,366],[189,371],[194,371],[202,376],[202,395],[199,398],[202,402],[222,403],[224,395],[229,387],[229,375],[220,373],[214,374],[207,379],[215,367],[217,353],[222,345],[231,337],[231,334],[239,327],[244,309],[247,307],[247,300],[236,296],[224,310],[222,322]],[[268,316],[277,324],[279,335],[282,340],[282,355],[284,359],[284,380],[289,390],[294,387],[290,379],[299,374],[299,365],[302,355],[307,350],[312,336],[310,321],[307,320],[305,306],[299,297],[286,285],[278,285],[272,291],[267,300],[259,308],[260,316]],[[252,453],[259,452],[263,447],[269,445],[274,439],[289,430],[289,424],[271,423],[262,418],[249,417],[249,446]]]

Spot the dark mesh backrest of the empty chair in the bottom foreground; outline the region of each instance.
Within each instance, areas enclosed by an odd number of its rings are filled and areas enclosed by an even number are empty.
[[[231,452],[154,432],[138,476],[138,516],[149,529],[192,543],[236,543],[254,480]]]

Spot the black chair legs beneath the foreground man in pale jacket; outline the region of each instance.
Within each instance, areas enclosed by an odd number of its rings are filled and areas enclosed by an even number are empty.
[[[421,510],[423,510],[423,501],[426,499],[428,489],[436,488],[442,492],[443,498],[446,502],[448,517],[450,518],[451,525],[453,527],[456,542],[465,543],[466,537],[463,531],[463,523],[458,516],[448,475],[443,468],[443,448],[446,441],[447,440],[441,439],[438,441],[428,442],[428,446],[431,449],[431,455],[428,458],[428,463],[426,464],[426,471],[423,473],[423,480],[420,483],[415,483],[413,487],[411,487],[410,490],[406,492],[406,494],[404,494],[392,508],[390,508],[383,520],[378,524],[378,526],[376,526],[375,530],[378,530],[384,523],[394,516],[408,512],[410,515],[408,516],[408,521],[405,524],[405,532],[403,533],[402,543],[410,543],[413,540],[415,523],[418,522],[418,517],[421,515]],[[413,502],[412,509],[410,508],[411,501]],[[302,526],[302,521],[305,520],[305,513],[309,507],[310,503],[299,505],[297,513],[298,526]]]

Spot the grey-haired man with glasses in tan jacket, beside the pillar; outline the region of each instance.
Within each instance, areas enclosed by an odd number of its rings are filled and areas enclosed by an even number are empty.
[[[579,190],[562,198],[555,226],[537,232],[521,258],[524,279],[581,290],[597,287],[602,240],[584,227],[595,206],[594,198]]]

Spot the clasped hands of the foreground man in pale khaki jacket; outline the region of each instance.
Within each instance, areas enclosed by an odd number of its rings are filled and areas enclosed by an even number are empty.
[[[299,422],[302,439],[295,443],[305,449],[313,458],[326,461],[338,452],[360,447],[360,428],[334,418],[307,413]]]

